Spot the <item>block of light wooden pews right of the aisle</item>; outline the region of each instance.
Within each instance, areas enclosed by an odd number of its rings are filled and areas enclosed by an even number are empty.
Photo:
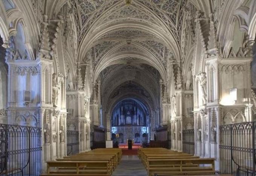
[[[215,175],[215,159],[164,148],[142,148],[138,156],[149,176]]]

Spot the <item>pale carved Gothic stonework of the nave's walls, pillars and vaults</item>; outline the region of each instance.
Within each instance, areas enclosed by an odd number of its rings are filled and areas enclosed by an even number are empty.
[[[148,139],[171,124],[182,150],[194,126],[195,153],[217,158],[205,146],[218,147],[219,125],[255,111],[256,5],[234,1],[10,0],[0,6],[1,122],[43,128],[43,150],[56,154],[46,161],[66,155],[67,129],[89,150],[94,128],[110,133],[114,106],[133,98],[148,108]]]

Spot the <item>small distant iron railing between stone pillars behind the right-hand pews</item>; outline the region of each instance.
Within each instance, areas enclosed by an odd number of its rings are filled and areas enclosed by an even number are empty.
[[[195,154],[195,133],[194,129],[182,130],[182,149],[183,152]]]

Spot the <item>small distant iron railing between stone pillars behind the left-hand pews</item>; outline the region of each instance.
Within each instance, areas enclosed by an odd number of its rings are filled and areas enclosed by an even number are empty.
[[[79,131],[67,130],[67,155],[79,153]]]

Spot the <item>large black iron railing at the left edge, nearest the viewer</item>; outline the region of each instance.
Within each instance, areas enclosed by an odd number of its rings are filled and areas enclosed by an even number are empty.
[[[40,175],[41,150],[41,128],[0,124],[0,175]]]

